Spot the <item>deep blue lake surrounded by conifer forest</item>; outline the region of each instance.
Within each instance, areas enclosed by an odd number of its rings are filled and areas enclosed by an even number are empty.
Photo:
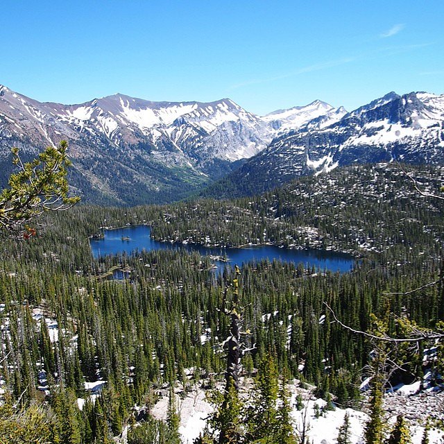
[[[262,259],[280,260],[282,262],[293,262],[293,264],[304,264],[306,268],[314,266],[321,270],[339,271],[346,273],[351,271],[355,265],[355,259],[345,253],[337,253],[327,250],[292,250],[289,248],[278,248],[270,245],[248,246],[244,248],[215,248],[195,244],[171,244],[151,239],[150,228],[146,225],[136,227],[119,228],[117,230],[105,230],[104,239],[90,239],[92,254],[94,257],[115,255],[118,253],[131,254],[135,250],[187,250],[197,251],[200,255],[227,256],[230,264],[239,266],[246,262],[260,261]],[[128,240],[123,240],[129,238]],[[226,262],[215,261],[219,270],[226,266]]]

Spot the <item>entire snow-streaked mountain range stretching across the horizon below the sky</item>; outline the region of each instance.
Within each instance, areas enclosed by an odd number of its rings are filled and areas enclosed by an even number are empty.
[[[264,117],[230,99],[153,102],[115,94],[78,105],[41,103],[0,86],[0,166],[69,142],[73,191],[134,205],[252,194],[354,162],[444,163],[444,95],[394,92],[347,112],[322,101]],[[224,192],[225,192],[224,191]]]

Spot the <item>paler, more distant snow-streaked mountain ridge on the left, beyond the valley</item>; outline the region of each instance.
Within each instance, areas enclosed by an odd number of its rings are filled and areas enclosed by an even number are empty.
[[[332,110],[319,101],[294,108],[284,128],[329,119]],[[281,114],[262,118],[230,99],[153,102],[123,94],[78,105],[40,103],[0,86],[0,160],[8,171],[12,146],[26,159],[67,139],[70,182],[89,200],[177,200],[266,148],[282,127]]]

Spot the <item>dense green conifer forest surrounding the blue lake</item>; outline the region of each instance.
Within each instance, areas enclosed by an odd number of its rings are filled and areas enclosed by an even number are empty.
[[[439,193],[443,171],[420,168],[414,176],[420,189]],[[180,250],[94,259],[88,238],[101,236],[103,227],[144,223],[161,241],[355,255],[355,270],[343,274],[276,261],[239,264],[248,332],[243,346],[249,349],[241,374],[258,375],[265,398],[253,407],[268,408],[260,415],[250,408],[256,435],[239,442],[262,442],[258,415],[284,424],[275,416],[288,414],[285,382],[264,375],[297,377],[314,384],[321,398],[361,406],[359,384],[373,344],[334,322],[325,302],[345,325],[364,332],[375,329],[373,315],[384,319],[386,334],[400,337],[410,323],[434,329],[443,321],[443,285],[424,286],[441,278],[442,217],[441,200],[419,194],[398,167],[378,165],[301,178],[253,198],[77,205],[44,215],[31,239],[3,233],[0,436],[15,436],[11,443],[31,442],[32,433],[42,442],[110,443],[138,419],[135,405],[149,411],[159,388],[177,381],[185,390],[194,383],[212,388],[224,377],[230,318],[222,307],[225,296],[232,298],[226,289],[234,270],[216,275],[210,257]],[[109,272],[117,268],[128,271],[125,279],[112,279]],[[399,348],[392,359],[398,370],[391,382],[411,382],[432,367],[439,377],[440,361],[423,360],[418,350]],[[101,391],[93,402],[88,388],[94,385]],[[276,412],[270,406],[278,396],[283,407]],[[85,400],[81,410],[78,398]],[[180,442],[174,415],[172,402],[166,425],[148,416],[128,442],[157,442],[148,441],[149,434]],[[273,433],[273,442],[294,442],[284,441],[282,429]]]

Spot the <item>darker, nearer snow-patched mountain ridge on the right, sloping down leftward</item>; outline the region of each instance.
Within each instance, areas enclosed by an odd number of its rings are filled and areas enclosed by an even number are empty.
[[[444,164],[443,124],[444,95],[390,92],[334,123],[316,126],[314,119],[279,134],[216,189],[258,193],[354,163]]]

